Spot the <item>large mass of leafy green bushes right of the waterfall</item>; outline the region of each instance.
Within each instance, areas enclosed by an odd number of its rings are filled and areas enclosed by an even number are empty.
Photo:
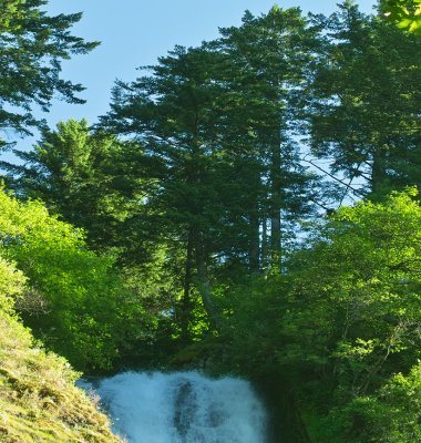
[[[419,440],[415,197],[410,188],[343,207],[291,255],[285,275],[220,290],[226,354],[216,367],[286,380],[284,394],[292,393],[315,442]]]

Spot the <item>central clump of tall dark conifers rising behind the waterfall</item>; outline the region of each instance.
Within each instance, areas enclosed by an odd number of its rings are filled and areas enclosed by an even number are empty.
[[[308,209],[314,176],[300,166],[291,135],[291,97],[310,56],[305,28],[296,9],[246,13],[219,40],[177,47],[150,75],[119,82],[102,119],[109,131],[140,143],[143,161],[154,165],[148,204],[161,231],[183,245],[185,300],[195,284],[210,318],[212,270],[239,264],[259,271],[267,265],[267,219],[279,258],[280,214],[296,219]]]

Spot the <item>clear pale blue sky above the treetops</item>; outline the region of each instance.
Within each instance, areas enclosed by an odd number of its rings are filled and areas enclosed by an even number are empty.
[[[337,0],[283,0],[279,7],[300,7],[304,12],[330,13]],[[376,0],[359,0],[364,12],[371,12]],[[63,76],[82,83],[86,91],[84,105],[54,102],[47,115],[50,125],[61,120],[85,117],[94,123],[106,113],[115,79],[132,81],[136,66],[154,64],[175,44],[198,45],[218,35],[218,27],[240,24],[245,10],[266,13],[274,0],[50,0],[51,13],[83,11],[73,33],[86,40],[99,40],[101,47],[88,55],[75,56],[63,64]]]

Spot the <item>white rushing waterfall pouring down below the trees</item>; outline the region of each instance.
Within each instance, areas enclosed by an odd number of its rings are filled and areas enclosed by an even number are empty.
[[[130,443],[266,441],[264,406],[240,379],[125,372],[102,380],[94,390],[114,431]]]

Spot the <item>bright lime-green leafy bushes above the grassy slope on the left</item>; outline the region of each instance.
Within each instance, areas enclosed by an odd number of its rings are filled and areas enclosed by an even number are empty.
[[[113,259],[86,249],[82,233],[49,216],[39,202],[0,194],[0,254],[28,277],[18,300],[27,324],[79,369],[109,369],[151,318],[113,271]],[[147,327],[146,327],[147,324]]]

